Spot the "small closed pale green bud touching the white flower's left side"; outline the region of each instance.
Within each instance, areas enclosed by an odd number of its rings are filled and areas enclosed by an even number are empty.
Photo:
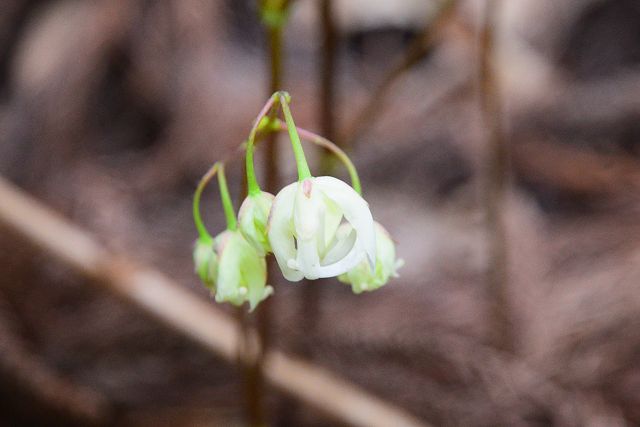
[[[238,214],[240,232],[262,256],[271,252],[271,245],[267,237],[267,221],[273,205],[273,198],[273,194],[264,191],[250,194],[242,202]]]

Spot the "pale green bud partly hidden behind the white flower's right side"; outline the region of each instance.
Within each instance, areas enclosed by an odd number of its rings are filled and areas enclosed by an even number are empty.
[[[348,272],[338,276],[342,283],[350,284],[354,293],[373,291],[385,285],[391,277],[398,277],[397,270],[404,261],[396,258],[396,245],[389,232],[374,222],[376,235],[376,265],[372,271],[365,260]]]

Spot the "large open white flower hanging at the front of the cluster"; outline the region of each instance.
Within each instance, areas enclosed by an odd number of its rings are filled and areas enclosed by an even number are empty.
[[[343,218],[350,227],[340,227]],[[283,188],[271,208],[268,236],[282,274],[292,282],[338,276],[365,258],[375,268],[369,205],[337,178],[311,177]]]

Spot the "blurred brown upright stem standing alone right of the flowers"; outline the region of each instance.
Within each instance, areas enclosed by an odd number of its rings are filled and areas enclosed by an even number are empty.
[[[480,34],[480,102],[487,128],[484,200],[489,261],[486,287],[489,297],[491,339],[496,347],[513,351],[514,336],[508,298],[507,239],[504,225],[509,152],[501,123],[500,91],[493,68],[499,6],[500,0],[486,0]]]

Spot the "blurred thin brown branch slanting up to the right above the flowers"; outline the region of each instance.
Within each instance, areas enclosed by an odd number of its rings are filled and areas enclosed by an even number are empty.
[[[369,101],[356,114],[351,125],[339,138],[340,145],[351,147],[367,125],[375,121],[385,105],[389,91],[398,78],[424,59],[431,51],[434,41],[453,15],[458,0],[441,0],[436,12],[428,19],[425,29],[409,45],[403,56],[387,71],[373,90]]]

